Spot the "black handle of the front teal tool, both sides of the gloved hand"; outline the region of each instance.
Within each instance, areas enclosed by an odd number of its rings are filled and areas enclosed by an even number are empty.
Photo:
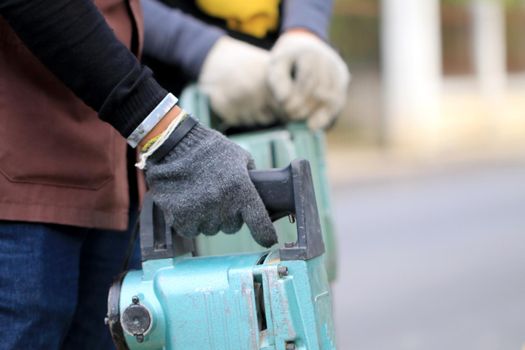
[[[297,241],[280,249],[281,260],[308,260],[324,253],[310,163],[297,159],[280,169],[250,171],[270,218],[293,215]],[[140,214],[142,260],[165,259],[194,251],[193,240],[174,235],[151,195],[144,198]]]

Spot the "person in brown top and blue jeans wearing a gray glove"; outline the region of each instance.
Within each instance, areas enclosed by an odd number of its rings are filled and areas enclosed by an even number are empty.
[[[138,63],[138,1],[96,3],[105,19],[89,0],[0,2],[1,349],[113,347],[106,295],[139,192],[126,142],[176,232],[245,222],[277,241],[250,155]]]

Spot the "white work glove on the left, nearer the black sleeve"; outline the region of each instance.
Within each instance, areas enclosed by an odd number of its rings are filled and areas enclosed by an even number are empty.
[[[269,62],[268,51],[227,36],[212,47],[198,84],[226,125],[267,125],[277,119],[266,85]]]

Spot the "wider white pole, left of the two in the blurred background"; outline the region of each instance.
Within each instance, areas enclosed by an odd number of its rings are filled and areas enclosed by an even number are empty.
[[[439,1],[382,0],[381,11],[387,140],[406,143],[414,137],[426,138],[440,117]]]

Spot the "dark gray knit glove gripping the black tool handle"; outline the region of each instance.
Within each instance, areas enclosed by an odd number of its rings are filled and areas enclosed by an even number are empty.
[[[160,161],[148,160],[146,181],[177,234],[235,233],[246,222],[255,241],[270,247],[277,234],[250,180],[253,168],[247,151],[197,124]]]

